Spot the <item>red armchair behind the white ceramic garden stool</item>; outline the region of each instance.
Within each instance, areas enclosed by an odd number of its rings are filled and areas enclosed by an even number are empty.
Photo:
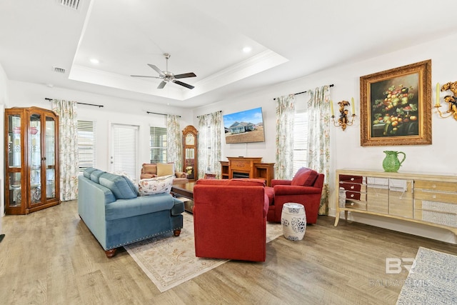
[[[269,198],[267,221],[281,222],[283,204],[296,202],[305,206],[306,223],[316,224],[323,186],[323,174],[302,167],[292,180],[271,180],[265,191]]]

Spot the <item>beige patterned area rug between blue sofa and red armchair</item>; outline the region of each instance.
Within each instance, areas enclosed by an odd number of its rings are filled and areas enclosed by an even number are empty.
[[[194,218],[189,213],[184,213],[183,216],[184,227],[179,237],[174,237],[173,233],[169,233],[124,246],[161,292],[228,261],[196,257]],[[272,241],[282,234],[281,224],[267,223],[266,242]]]

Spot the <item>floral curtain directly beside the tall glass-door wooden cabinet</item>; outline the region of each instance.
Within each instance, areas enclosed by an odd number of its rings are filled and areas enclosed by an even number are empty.
[[[60,198],[78,198],[78,116],[76,101],[52,101],[52,110],[59,116]]]

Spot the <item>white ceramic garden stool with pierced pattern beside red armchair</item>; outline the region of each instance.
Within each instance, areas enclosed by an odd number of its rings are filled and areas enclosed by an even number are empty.
[[[306,231],[306,214],[303,204],[288,202],[283,205],[281,224],[284,237],[290,241],[301,241]]]

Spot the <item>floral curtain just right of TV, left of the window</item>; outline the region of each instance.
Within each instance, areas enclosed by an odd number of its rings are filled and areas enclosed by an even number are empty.
[[[293,118],[295,96],[276,98],[276,179],[293,178]]]

